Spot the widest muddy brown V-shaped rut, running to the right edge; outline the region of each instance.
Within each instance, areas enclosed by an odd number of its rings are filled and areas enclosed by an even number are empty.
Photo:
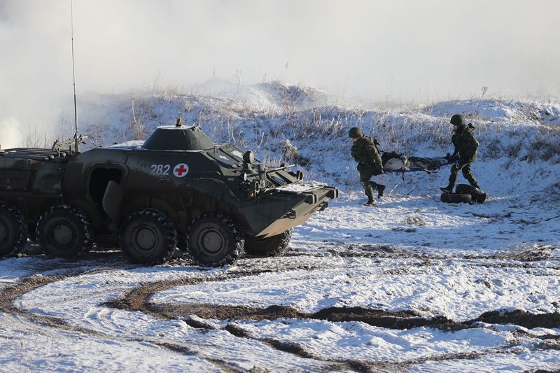
[[[411,329],[430,327],[442,331],[457,331],[479,328],[479,323],[514,324],[524,328],[560,328],[560,314],[532,314],[515,309],[513,311],[487,311],[468,321],[453,321],[444,316],[424,317],[413,310],[386,311],[384,309],[366,309],[364,307],[329,307],[315,313],[305,313],[293,307],[270,305],[266,308],[230,306],[225,304],[153,304],[153,294],[176,286],[196,285],[204,282],[218,282],[254,276],[256,274],[276,272],[272,269],[229,272],[221,276],[197,277],[142,283],[123,297],[107,302],[105,305],[128,311],[142,311],[158,318],[174,319],[195,314],[201,318],[227,320],[232,318],[250,320],[276,320],[277,318],[311,318],[332,322],[360,321],[372,326],[391,329]]]

